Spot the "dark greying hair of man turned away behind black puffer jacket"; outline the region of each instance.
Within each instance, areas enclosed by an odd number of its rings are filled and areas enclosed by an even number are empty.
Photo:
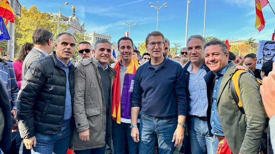
[[[44,29],[36,29],[32,33],[33,44],[45,45],[48,43],[49,39],[53,40],[53,38],[53,33]]]

